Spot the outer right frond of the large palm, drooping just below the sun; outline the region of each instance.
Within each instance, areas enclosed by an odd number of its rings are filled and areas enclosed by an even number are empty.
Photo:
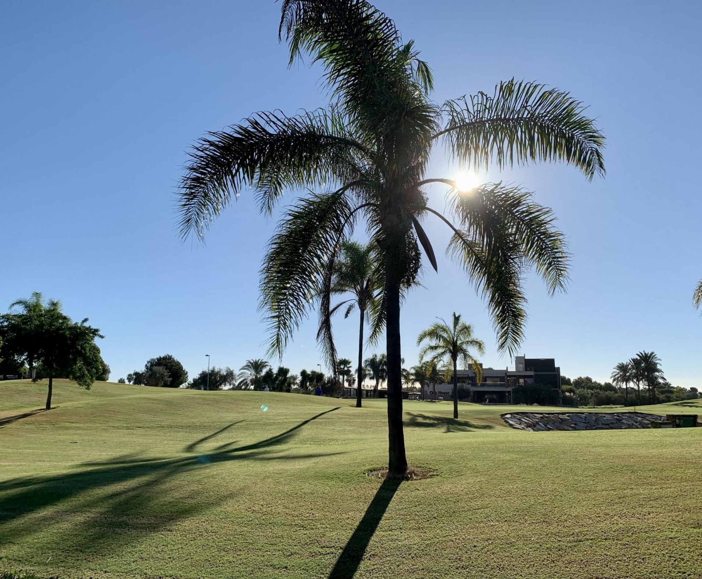
[[[536,269],[552,295],[566,288],[569,254],[551,209],[532,199],[531,192],[501,182],[481,185],[469,194],[449,191],[459,227],[472,232],[489,255],[499,255],[505,239],[517,247],[525,265]]]

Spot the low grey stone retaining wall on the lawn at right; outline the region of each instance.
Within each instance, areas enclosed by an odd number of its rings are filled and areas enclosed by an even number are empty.
[[[651,422],[665,418],[643,412],[509,412],[502,415],[512,428],[545,430],[612,430],[650,428]]]

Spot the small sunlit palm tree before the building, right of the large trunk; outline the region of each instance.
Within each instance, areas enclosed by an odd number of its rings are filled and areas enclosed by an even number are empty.
[[[461,314],[453,312],[451,326],[443,319],[432,324],[417,336],[417,345],[430,342],[419,352],[419,359],[429,357],[430,361],[437,364],[441,361],[453,362],[453,418],[458,418],[458,359],[460,358],[465,368],[470,364],[475,372],[477,384],[482,382],[482,367],[470,350],[477,350],[482,356],[485,354],[485,344],[473,336],[473,326],[461,321]]]

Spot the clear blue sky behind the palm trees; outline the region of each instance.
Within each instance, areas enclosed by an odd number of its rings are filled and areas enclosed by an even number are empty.
[[[604,380],[654,350],[676,385],[702,387],[698,193],[702,153],[702,3],[691,1],[378,0],[416,39],[456,98],[512,76],[571,91],[606,133],[607,178],[545,165],[489,173],[554,208],[573,254],[569,291],[528,282],[522,350],[562,372]],[[21,1],[0,4],[0,310],[42,291],[102,329],[112,380],[174,354],[191,375],[263,354],[258,267],[274,221],[251,195],[215,223],[206,246],[180,244],[173,194],[188,145],[257,110],[324,105],[320,70],[288,69],[279,4],[227,1]],[[437,151],[429,176],[453,174]],[[442,190],[432,191],[443,206]],[[407,364],[418,331],[461,312],[496,352],[482,302],[439,248],[439,274],[403,308]],[[320,360],[314,322],[283,364]],[[356,319],[336,324],[356,357]],[[380,347],[377,349],[380,351]],[[367,352],[372,353],[371,350]]]

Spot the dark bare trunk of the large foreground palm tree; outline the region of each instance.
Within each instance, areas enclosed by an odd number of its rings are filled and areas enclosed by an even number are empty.
[[[385,257],[385,299],[387,321],[385,328],[388,356],[388,472],[402,475],[407,471],[402,430],[402,353],[399,334],[399,285],[393,251]]]

